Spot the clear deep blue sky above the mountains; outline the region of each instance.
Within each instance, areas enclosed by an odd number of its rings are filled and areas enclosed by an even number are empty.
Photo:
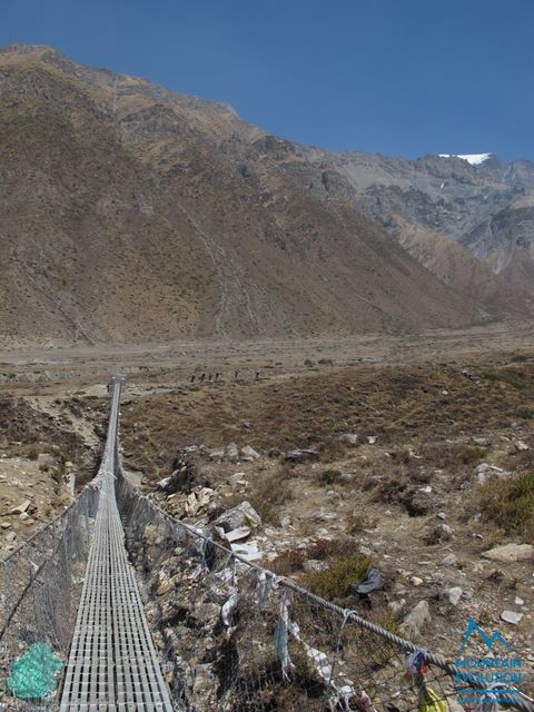
[[[14,41],[325,148],[534,160],[534,0],[1,0]]]

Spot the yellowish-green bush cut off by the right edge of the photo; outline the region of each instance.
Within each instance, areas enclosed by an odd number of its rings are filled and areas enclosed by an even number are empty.
[[[534,475],[521,474],[513,479],[496,477],[481,487],[481,506],[487,521],[505,532],[534,541]]]

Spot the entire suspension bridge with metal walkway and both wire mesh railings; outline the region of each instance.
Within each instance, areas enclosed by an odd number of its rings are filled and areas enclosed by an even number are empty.
[[[120,472],[122,385],[97,477],[0,561],[0,711],[534,712],[155,506]]]

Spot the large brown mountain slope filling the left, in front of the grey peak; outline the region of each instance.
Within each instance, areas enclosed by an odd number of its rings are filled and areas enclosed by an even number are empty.
[[[8,343],[349,334],[493,315],[352,200],[315,195],[277,140],[226,105],[20,46],[0,52],[0,100]]]

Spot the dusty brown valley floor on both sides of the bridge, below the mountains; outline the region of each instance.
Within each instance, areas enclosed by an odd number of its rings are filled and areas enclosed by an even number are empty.
[[[423,642],[434,650],[453,655],[472,615],[488,630],[500,627],[532,666],[533,563],[482,555],[501,543],[534,543],[532,522],[500,507],[502,483],[534,471],[532,329],[4,354],[1,392],[32,408],[26,421],[50,418],[57,427],[47,439],[19,425],[2,443],[4,482],[20,481],[22,467],[27,473],[14,492],[12,482],[2,484],[9,504],[30,479],[50,490],[31,514],[36,523],[50,502],[61,506],[41,459],[57,466],[61,457],[51,445],[66,433],[87,452],[98,449],[105,383],[117,370],[128,376],[125,464],[160,504],[184,515],[185,495],[168,497],[155,486],[178,452],[196,446],[188,453],[194,492],[214,492],[191,521],[253,502],[264,520],[256,536],[264,564],[305,581],[306,560],[332,564],[348,540],[373,557],[386,587],[364,600],[349,595],[344,605],[397,626],[425,600],[432,622]],[[356,435],[356,443],[340,442],[343,434]],[[39,459],[30,461],[39,439]],[[260,456],[230,461],[220,452],[229,443]],[[316,454],[286,463],[295,447]],[[481,475],[483,463],[504,474]],[[236,473],[243,475],[230,484]],[[18,536],[31,530],[18,516],[3,521],[17,521]],[[451,587],[462,590],[456,604]],[[504,610],[522,613],[521,622],[503,622]]]

